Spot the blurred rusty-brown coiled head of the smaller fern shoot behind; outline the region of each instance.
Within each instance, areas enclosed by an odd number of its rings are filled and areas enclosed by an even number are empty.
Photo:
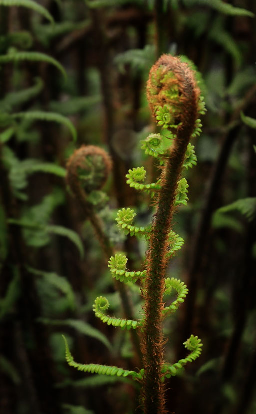
[[[111,167],[111,158],[104,149],[94,145],[82,145],[67,162],[66,180],[73,192],[76,192],[79,185],[89,194],[103,187]]]

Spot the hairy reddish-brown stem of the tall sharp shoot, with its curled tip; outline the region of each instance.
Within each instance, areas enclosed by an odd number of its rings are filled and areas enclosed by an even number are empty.
[[[160,74],[159,71],[161,71]],[[174,73],[179,89],[180,102],[182,102],[179,121],[182,121],[182,125],[177,128],[177,137],[162,172],[162,188],[150,237],[147,260],[147,278],[144,289],[145,323],[142,337],[145,369],[142,398],[145,414],[162,414],[165,412],[164,386],[161,382],[164,343],[161,321],[164,278],[167,267],[167,237],[175,211],[174,201],[185,151],[197,117],[198,89],[195,85],[193,73],[186,64],[170,55],[161,56],[150,71],[147,90],[153,115],[155,116],[156,108],[166,102],[165,98],[163,98],[163,101],[161,100],[162,91],[166,86],[160,82],[157,86],[154,86],[153,76],[156,74],[156,76],[163,79],[169,72]],[[157,90],[158,95],[156,95],[155,90]]]

